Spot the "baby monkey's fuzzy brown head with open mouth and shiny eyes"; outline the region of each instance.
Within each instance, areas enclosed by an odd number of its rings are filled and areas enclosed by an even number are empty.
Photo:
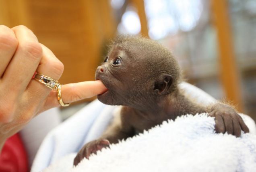
[[[177,89],[180,69],[159,43],[140,36],[120,35],[96,70],[108,91],[98,95],[108,105],[150,107]]]

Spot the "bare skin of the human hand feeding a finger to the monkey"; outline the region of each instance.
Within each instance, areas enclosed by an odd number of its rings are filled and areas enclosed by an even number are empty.
[[[0,25],[0,150],[33,117],[60,106],[56,91],[31,79],[35,71],[58,80],[64,65],[26,26]],[[85,81],[63,85],[61,91],[64,103],[72,103],[106,90],[101,81]]]

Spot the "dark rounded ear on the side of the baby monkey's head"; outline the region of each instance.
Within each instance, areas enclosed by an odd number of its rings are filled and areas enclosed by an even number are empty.
[[[158,81],[155,82],[154,91],[159,95],[163,95],[168,92],[169,87],[173,82],[173,77],[171,75],[163,74]]]

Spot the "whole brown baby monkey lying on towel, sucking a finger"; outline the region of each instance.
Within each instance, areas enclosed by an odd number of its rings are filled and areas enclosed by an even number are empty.
[[[224,103],[196,104],[179,88],[180,68],[173,55],[159,43],[140,36],[120,35],[114,40],[104,63],[97,68],[96,80],[107,91],[97,98],[107,105],[122,105],[103,135],[83,146],[74,159],[84,157],[118,140],[186,114],[208,112],[215,117],[217,133],[241,135],[248,127],[237,112]]]

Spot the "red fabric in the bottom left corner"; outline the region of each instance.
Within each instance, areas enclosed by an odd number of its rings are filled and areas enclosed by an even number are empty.
[[[28,172],[28,159],[25,148],[19,137],[15,134],[8,138],[0,154],[0,172]]]

